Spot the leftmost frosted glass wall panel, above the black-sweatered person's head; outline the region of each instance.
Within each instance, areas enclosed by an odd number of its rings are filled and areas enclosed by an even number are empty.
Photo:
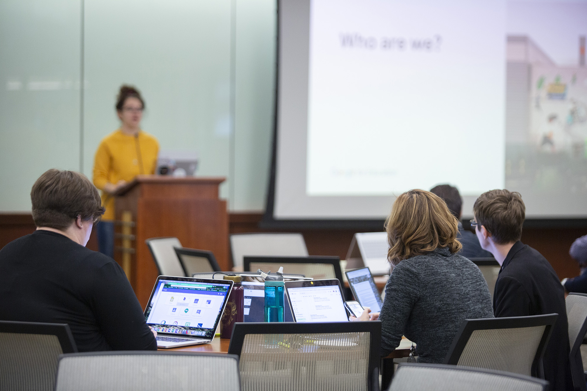
[[[79,0],[0,2],[0,210],[30,211],[52,167],[79,169]]]

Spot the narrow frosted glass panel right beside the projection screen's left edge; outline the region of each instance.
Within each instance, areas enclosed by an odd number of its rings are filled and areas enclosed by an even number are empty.
[[[262,210],[271,165],[276,2],[237,1],[235,210]]]

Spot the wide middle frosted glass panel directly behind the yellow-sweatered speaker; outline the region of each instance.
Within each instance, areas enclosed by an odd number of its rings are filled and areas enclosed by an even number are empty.
[[[119,126],[114,96],[130,83],[146,101],[142,129],[161,149],[195,150],[199,175],[228,176],[230,22],[230,0],[86,0],[87,175]]]

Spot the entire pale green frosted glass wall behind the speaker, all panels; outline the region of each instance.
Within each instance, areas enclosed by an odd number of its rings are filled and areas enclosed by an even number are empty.
[[[232,211],[262,210],[275,23],[275,0],[0,1],[0,213],[30,211],[48,168],[92,177],[123,83],[143,93],[162,149],[197,151],[198,175],[228,178]]]

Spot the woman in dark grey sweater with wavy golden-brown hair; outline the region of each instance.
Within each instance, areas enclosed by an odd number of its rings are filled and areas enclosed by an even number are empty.
[[[442,363],[463,319],[493,318],[487,283],[473,262],[457,255],[457,218],[436,194],[399,195],[386,228],[393,271],[383,307],[356,320],[382,322],[382,356],[405,335],[417,345],[418,362]]]

